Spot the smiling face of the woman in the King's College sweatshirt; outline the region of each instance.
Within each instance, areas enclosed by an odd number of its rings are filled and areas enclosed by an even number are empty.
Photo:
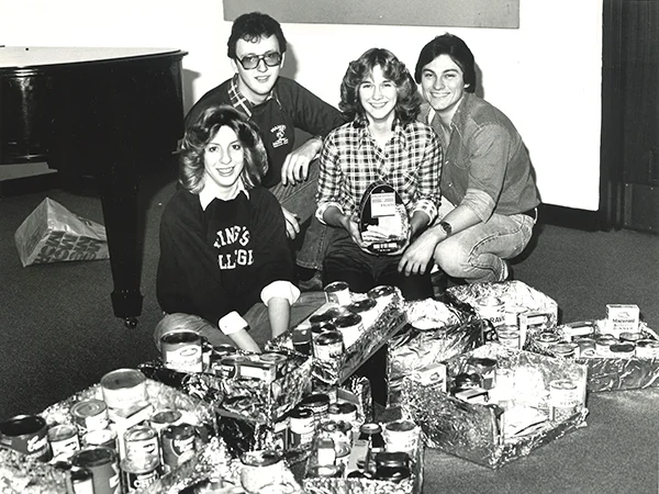
[[[220,127],[203,150],[205,180],[213,180],[223,197],[231,197],[238,188],[244,167],[245,153],[238,136],[226,125]]]

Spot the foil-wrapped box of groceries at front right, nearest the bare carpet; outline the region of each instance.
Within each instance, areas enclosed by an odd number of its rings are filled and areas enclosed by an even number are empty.
[[[488,343],[446,367],[448,393],[403,384],[402,414],[426,447],[496,469],[585,426],[583,364]]]

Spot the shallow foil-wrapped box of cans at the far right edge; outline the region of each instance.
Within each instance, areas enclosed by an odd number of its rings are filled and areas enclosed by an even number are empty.
[[[638,322],[629,332],[611,333],[608,319],[573,322],[532,334],[529,351],[588,367],[591,392],[659,386],[659,336]]]

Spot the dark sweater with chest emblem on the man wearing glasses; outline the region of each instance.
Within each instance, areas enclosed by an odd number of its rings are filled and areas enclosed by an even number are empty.
[[[193,124],[205,109],[219,104],[232,104],[228,97],[231,79],[206,92],[190,109],[186,128]],[[294,149],[295,128],[314,136],[324,137],[333,128],[345,123],[343,115],[298,82],[279,77],[271,98],[252,109],[250,120],[260,128],[261,139],[268,153],[270,169],[263,186],[272,187],[281,181],[281,166]],[[237,110],[241,110],[237,106]]]

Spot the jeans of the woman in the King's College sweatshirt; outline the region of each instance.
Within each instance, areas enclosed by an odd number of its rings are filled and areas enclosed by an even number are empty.
[[[298,301],[291,305],[291,317],[289,327],[295,327],[306,317],[313,314],[321,305],[326,302],[325,292],[306,292],[300,294]],[[263,349],[264,345],[272,339],[270,330],[270,318],[268,317],[268,307],[258,302],[249,308],[243,318],[249,324],[249,335]],[[232,339],[220,330],[216,323],[210,323],[199,316],[191,314],[169,314],[166,315],[156,326],[154,340],[156,347],[160,348],[160,338],[167,333],[180,329],[189,329],[201,334],[211,345],[232,345]]]

